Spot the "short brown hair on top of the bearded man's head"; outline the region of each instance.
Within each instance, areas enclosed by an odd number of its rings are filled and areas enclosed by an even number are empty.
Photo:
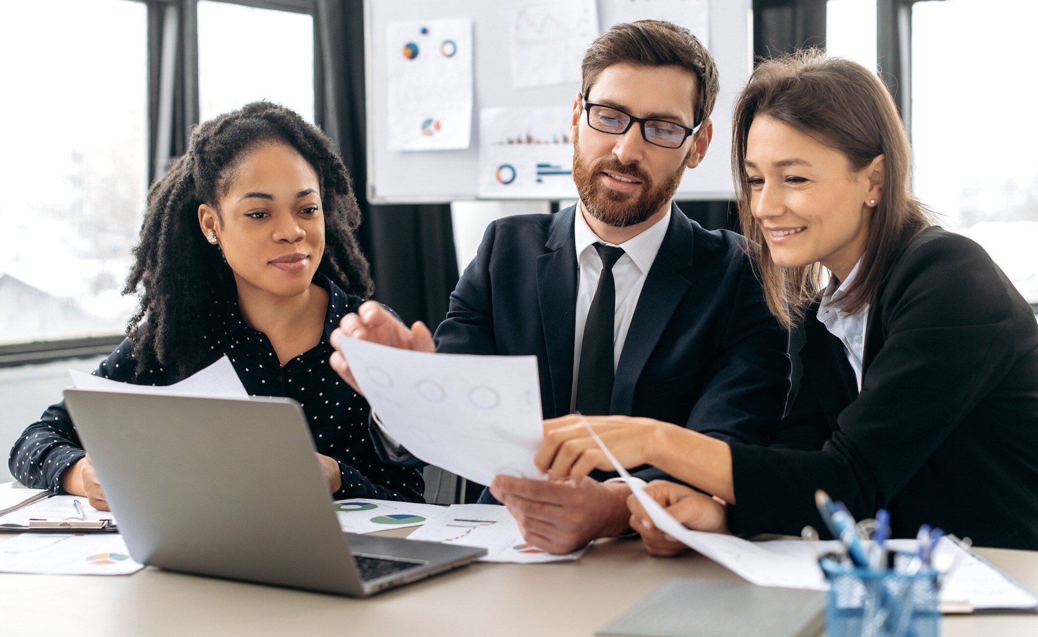
[[[717,65],[703,43],[684,27],[661,20],[624,22],[595,38],[580,64],[585,100],[605,69],[627,63],[634,67],[682,67],[695,76],[693,113],[699,126],[710,116],[717,101]]]

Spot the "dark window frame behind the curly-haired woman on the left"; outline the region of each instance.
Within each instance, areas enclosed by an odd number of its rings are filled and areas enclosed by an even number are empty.
[[[160,177],[169,159],[183,149],[174,143],[174,127],[198,124],[198,0],[130,0],[147,6],[147,180]],[[294,14],[317,22],[312,0],[213,0]],[[316,24],[315,24],[316,28]],[[315,38],[317,49],[317,38]],[[180,62],[182,74],[175,77]],[[315,50],[313,88],[320,95],[321,56]],[[180,89],[180,90],[177,90]],[[315,107],[318,101],[315,100]],[[110,353],[125,335],[45,339],[0,345],[0,368],[35,365],[64,359],[87,359]]]

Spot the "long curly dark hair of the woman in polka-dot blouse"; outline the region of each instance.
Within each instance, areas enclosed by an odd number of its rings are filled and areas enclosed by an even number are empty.
[[[217,210],[230,176],[245,156],[265,143],[295,149],[313,167],[321,185],[325,251],[318,271],[343,290],[371,296],[372,277],[354,231],[360,209],[350,176],[331,140],[294,111],[270,102],[252,102],[194,127],[187,152],[152,184],[134,264],[122,290],[142,288],[127,337],[137,366],[135,377],[156,366],[186,377],[202,364],[199,317],[218,298],[237,294],[230,267],[219,247],[198,227],[198,206]]]

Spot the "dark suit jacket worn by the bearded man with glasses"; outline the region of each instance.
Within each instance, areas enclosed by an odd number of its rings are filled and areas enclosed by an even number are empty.
[[[574,214],[572,206],[493,221],[436,330],[440,352],[536,355],[545,418],[570,413]],[[789,369],[787,335],[768,313],[742,238],[705,231],[674,206],[627,333],[610,413],[765,444],[782,417]]]

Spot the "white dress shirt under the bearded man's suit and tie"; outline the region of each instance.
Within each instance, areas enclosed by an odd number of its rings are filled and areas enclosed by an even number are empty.
[[[573,237],[576,240],[577,253],[577,309],[576,309],[576,331],[573,337],[573,391],[570,395],[570,410],[576,409],[577,400],[577,375],[580,372],[580,346],[583,343],[584,325],[588,322],[588,312],[591,311],[591,302],[595,298],[595,290],[598,288],[598,277],[602,272],[602,259],[595,249],[595,243],[605,243],[612,245],[598,238],[584,219],[582,206],[577,206],[576,214],[573,215]],[[638,304],[638,297],[641,296],[641,288],[646,283],[646,275],[656,261],[659,254],[659,246],[663,244],[663,237],[666,229],[671,224],[671,210],[661,219],[647,228],[636,237],[632,237],[621,243],[617,247],[624,249],[616,265],[612,266],[612,278],[617,288],[617,306],[612,325],[612,369],[616,371],[620,364],[620,353],[624,350],[624,341],[627,339],[627,330],[631,326],[631,318],[634,316],[634,308]]]

